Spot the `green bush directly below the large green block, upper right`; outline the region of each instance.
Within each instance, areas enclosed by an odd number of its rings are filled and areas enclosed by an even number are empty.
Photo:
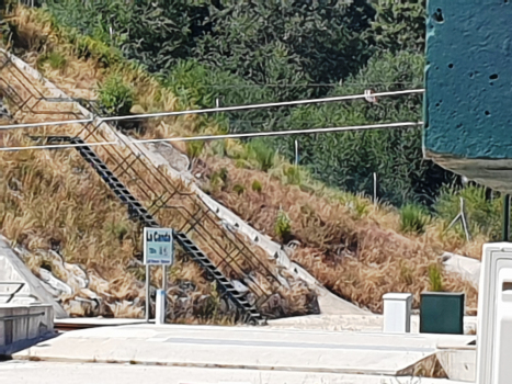
[[[439,217],[452,222],[460,212],[460,197],[464,199],[465,212],[471,235],[482,234],[491,240],[499,240],[503,219],[503,199],[500,194],[491,197],[490,193],[477,185],[464,189],[444,188],[434,205]],[[462,225],[456,227],[464,235]]]

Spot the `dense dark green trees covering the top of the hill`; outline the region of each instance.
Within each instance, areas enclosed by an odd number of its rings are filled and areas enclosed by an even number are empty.
[[[121,55],[136,60],[161,74],[182,106],[212,108],[217,98],[236,105],[423,84],[424,0],[48,0],[46,7],[82,56],[105,65]],[[216,118],[230,132],[261,132],[421,117],[421,97],[409,95]],[[294,157],[294,139],[268,139],[257,148],[250,142],[242,158],[269,170],[276,149]],[[379,200],[395,205],[431,204],[453,181],[422,159],[418,128],[301,136],[300,148],[301,165],[332,187],[372,194],[377,172]]]

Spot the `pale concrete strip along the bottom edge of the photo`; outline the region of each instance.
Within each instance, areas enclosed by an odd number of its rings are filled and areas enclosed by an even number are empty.
[[[0,377],[9,384],[462,384],[442,379],[32,361],[0,363]]]

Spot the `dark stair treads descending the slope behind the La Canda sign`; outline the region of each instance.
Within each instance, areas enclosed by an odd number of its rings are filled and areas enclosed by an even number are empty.
[[[33,139],[41,139],[41,137],[32,137]],[[47,136],[44,137],[47,144],[75,144],[79,145],[76,149],[80,153],[81,157],[96,171],[102,180],[115,193],[115,195],[126,204],[130,217],[138,219],[146,227],[158,228],[160,225],[155,217],[140,204],[140,202],[128,191],[128,189],[121,182],[120,179],[109,169],[98,155],[86,144],[80,137],[69,136]],[[182,231],[175,231],[174,238],[180,247],[200,264],[206,273],[213,278],[218,289],[225,293],[231,302],[240,308],[248,317],[249,323],[260,324],[264,321],[258,308],[251,305],[246,298],[246,293],[239,292],[232,282],[227,279],[224,273],[215,267],[208,257],[192,241],[192,239]]]

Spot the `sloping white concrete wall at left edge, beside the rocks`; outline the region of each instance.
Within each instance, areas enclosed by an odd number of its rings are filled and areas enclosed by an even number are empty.
[[[57,318],[68,317],[64,308],[55,301],[54,296],[43,286],[41,281],[32,274],[22,260],[14,253],[9,244],[0,237],[0,282],[24,282],[25,286],[20,297],[15,297],[13,303],[30,304],[41,302],[52,305]],[[7,287],[1,287],[7,290]],[[12,290],[12,287],[9,287]],[[3,291],[11,292],[11,291]],[[1,302],[1,301],[0,301]]]

